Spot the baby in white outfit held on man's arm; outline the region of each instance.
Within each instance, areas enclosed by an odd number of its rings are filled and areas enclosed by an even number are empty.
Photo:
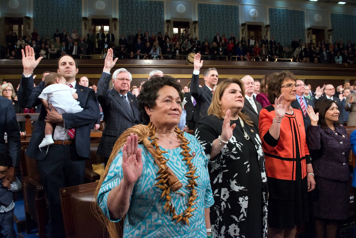
[[[66,79],[59,73],[50,73],[45,77],[45,86],[42,93],[38,98],[42,99],[42,104],[46,109],[49,108],[49,104],[56,108],[59,114],[77,113],[81,112],[83,108],[79,106],[77,89],[71,88],[66,85]],[[46,122],[45,126],[45,138],[38,146],[40,149],[46,145],[52,145],[54,143],[52,138],[53,125]]]

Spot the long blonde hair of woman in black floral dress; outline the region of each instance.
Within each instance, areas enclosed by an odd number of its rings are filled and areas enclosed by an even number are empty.
[[[225,89],[229,87],[231,83],[236,83],[240,86],[242,91],[242,97],[245,98],[245,84],[239,78],[228,78],[223,82],[219,83],[213,93],[213,99],[211,100],[210,107],[208,108],[208,115],[215,115],[218,118],[225,117],[225,110],[220,104],[220,100],[224,95]],[[241,111],[239,112],[239,117],[248,125],[253,126],[253,122],[250,117]]]

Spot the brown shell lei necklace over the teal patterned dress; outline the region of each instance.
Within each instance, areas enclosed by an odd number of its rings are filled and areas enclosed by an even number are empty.
[[[189,171],[185,174],[185,177],[188,178],[189,184],[185,187],[191,189],[190,197],[187,202],[187,209],[185,209],[185,211],[180,214],[176,214],[176,208],[173,207],[172,202],[171,202],[171,196],[169,196],[169,193],[171,192],[171,187],[169,187],[169,184],[168,184],[169,178],[167,178],[167,176],[170,173],[167,171],[167,169],[164,169],[164,166],[162,166],[163,164],[166,164],[166,162],[169,160],[163,156],[163,154],[167,153],[167,151],[163,151],[159,148],[159,145],[157,143],[158,138],[155,136],[156,127],[151,122],[150,122],[150,124],[148,124],[148,127],[150,128],[150,139],[152,140],[152,145],[156,149],[156,153],[157,153],[156,158],[161,161],[161,168],[159,168],[159,170],[157,171],[157,175],[158,174],[160,174],[160,175],[156,179],[156,180],[158,180],[158,182],[155,184],[155,186],[158,188],[161,188],[163,191],[162,195],[161,195],[161,199],[163,197],[166,198],[166,203],[164,204],[164,207],[163,207],[164,214],[167,214],[167,212],[169,211],[169,215],[170,216],[172,215],[172,221],[177,220],[176,224],[178,222],[182,222],[183,224],[187,224],[189,226],[189,218],[193,216],[193,211],[195,209],[197,209],[197,207],[193,208],[193,206],[197,203],[197,202],[194,202],[194,200],[196,200],[198,197],[197,189],[195,189],[194,187],[198,186],[195,179],[197,179],[199,177],[199,176],[194,176],[194,173],[197,170],[197,168],[195,168],[194,164],[191,162],[191,160],[194,157],[189,154],[191,149],[189,148],[188,144],[190,142],[187,140],[187,138],[185,138],[185,136],[183,136],[184,131],[180,130],[178,127],[176,127],[174,129],[174,131],[177,133],[178,139],[182,140],[182,143],[180,144],[180,147],[183,149],[183,151],[180,152],[180,154],[184,156],[184,159],[182,159],[182,161],[186,161],[185,164],[189,168]],[[180,193],[180,195],[183,196],[182,193]]]

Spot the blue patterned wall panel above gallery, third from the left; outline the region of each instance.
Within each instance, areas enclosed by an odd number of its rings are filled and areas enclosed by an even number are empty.
[[[231,33],[240,39],[239,6],[198,3],[198,21],[201,42],[207,38],[212,43],[216,32],[227,40]]]

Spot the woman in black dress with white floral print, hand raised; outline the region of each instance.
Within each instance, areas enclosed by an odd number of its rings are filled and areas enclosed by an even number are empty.
[[[221,82],[195,131],[209,159],[213,237],[267,237],[265,157],[252,121],[241,113],[244,91],[240,79]]]

